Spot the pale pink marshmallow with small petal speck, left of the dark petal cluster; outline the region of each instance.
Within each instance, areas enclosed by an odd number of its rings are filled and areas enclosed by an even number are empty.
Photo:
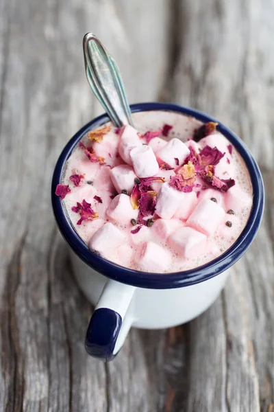
[[[170,165],[171,168],[178,168],[184,163],[189,154],[190,150],[186,147],[186,145],[175,137],[157,152],[157,159],[159,163],[164,162]]]

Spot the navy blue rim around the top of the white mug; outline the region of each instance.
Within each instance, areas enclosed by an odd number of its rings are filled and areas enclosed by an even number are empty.
[[[53,180],[51,185],[51,200],[53,205],[53,213],[55,215],[55,220],[58,227],[62,233],[62,236],[69,244],[71,249],[81,258],[88,266],[95,269],[102,275],[114,279],[117,282],[124,284],[129,284],[132,286],[137,286],[140,288],[152,288],[152,289],[166,289],[166,288],[180,288],[183,286],[190,286],[197,284],[199,282],[204,282],[216,275],[219,275],[227,268],[232,266],[241,256],[247,251],[256,233],[260,227],[260,222],[262,220],[262,214],[264,210],[264,185],[262,181],[262,174],[258,168],[258,165],[253,159],[253,156],[249,152],[249,149],[242,140],[234,133],[229,130],[226,126],[221,124],[218,120],[213,117],[197,111],[194,108],[180,106],[178,104],[171,103],[157,103],[157,102],[147,102],[132,104],[130,106],[132,113],[140,111],[173,111],[175,113],[182,113],[184,115],[189,115],[195,117],[201,122],[217,122],[217,130],[222,133],[231,143],[235,146],[236,150],[242,156],[242,159],[247,165],[249,174],[251,177],[251,183],[253,186],[253,207],[251,209],[251,214],[245,229],[243,229],[239,238],[234,242],[232,247],[230,247],[223,255],[218,258],[194,268],[188,271],[175,272],[175,273],[148,273],[135,271],[133,269],[125,268],[109,260],[105,260],[96,253],[91,252],[84,241],[79,237],[75,229],[72,227],[66,211],[62,205],[62,201],[58,196],[55,195],[55,188],[58,183],[61,183],[62,173],[64,170],[64,165],[66,160],[69,159],[73,148],[77,145],[80,139],[84,137],[88,130],[96,128],[105,124],[110,119],[108,115],[103,114],[96,117],[91,122],[88,122],[83,126],[66,144],[62,153],[55,165],[55,170],[53,172]]]

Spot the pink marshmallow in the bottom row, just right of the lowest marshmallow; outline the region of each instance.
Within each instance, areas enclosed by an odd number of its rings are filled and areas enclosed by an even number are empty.
[[[191,227],[182,227],[171,234],[169,244],[180,256],[186,259],[196,258],[206,250],[206,235]]]

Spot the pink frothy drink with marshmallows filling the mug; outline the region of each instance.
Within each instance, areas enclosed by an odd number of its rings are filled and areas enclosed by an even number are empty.
[[[129,130],[132,142],[128,146],[132,145],[132,148],[126,147],[126,136],[121,138],[121,130],[119,135],[110,123],[107,126],[111,130],[101,141],[90,141],[87,136],[82,139],[86,148],[93,146],[95,153],[92,156],[100,159],[93,163],[84,148],[77,146],[66,163],[62,184],[69,185],[71,192],[65,196],[63,204],[75,231],[90,249],[101,253],[104,258],[140,271],[186,271],[217,258],[234,244],[249,218],[252,187],[244,161],[236,149],[229,146],[229,141],[216,131],[210,138],[204,137],[198,143],[188,141],[202,125],[192,117],[168,111],[134,113],[132,117],[136,130],[142,134],[148,130],[160,130],[164,124],[173,127],[169,128],[168,136],[161,134],[154,139],[149,138],[150,141],[141,137],[140,142],[134,130]],[[119,154],[121,139],[124,142],[120,152],[123,152],[127,163]],[[175,140],[175,145],[166,146],[163,139],[179,139],[187,143],[181,147]],[[142,149],[143,144],[149,146],[143,146]],[[222,153],[225,152],[217,165],[218,172],[222,174],[218,177],[223,180],[232,178],[236,184],[223,192],[208,185],[197,175],[190,193],[171,187],[170,176],[173,179],[178,168],[186,163],[190,146],[195,150],[216,146]],[[174,155],[176,150],[173,147],[179,150],[177,156]],[[142,164],[143,156],[148,164]],[[137,204],[138,208],[133,209],[129,196],[136,186],[136,176],[137,181],[138,178],[142,180],[151,176],[151,170],[154,172],[158,169],[156,159],[160,169],[155,176],[164,178],[151,183],[151,189],[155,191],[151,194],[156,200],[155,213],[143,216],[140,223],[140,207]],[[172,164],[167,165],[167,161]],[[110,172],[112,168],[125,164],[127,166]],[[172,169],[167,171],[163,168]],[[138,176],[138,173],[142,176]],[[79,186],[75,186],[70,179],[74,174],[82,176]],[[126,191],[122,189],[123,181]],[[169,204],[169,192],[173,205]],[[99,218],[91,220],[82,214],[84,220],[77,225],[80,212],[79,206],[78,209],[75,207],[77,203],[81,206],[83,200],[91,205],[92,211],[96,212],[94,216],[98,214]],[[162,218],[157,215],[158,210]]]

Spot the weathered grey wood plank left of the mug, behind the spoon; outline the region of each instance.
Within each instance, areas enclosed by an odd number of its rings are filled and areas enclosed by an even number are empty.
[[[73,280],[49,196],[62,146],[101,111],[85,78],[85,32],[117,56],[132,101],[158,93],[168,4],[157,1],[157,19],[156,1],[144,5],[136,2],[132,14],[124,0],[1,3],[1,411],[149,410],[140,341],[125,348],[125,366],[121,358],[108,369],[86,356],[91,308]],[[133,27],[139,21],[142,36]],[[151,56],[160,60],[156,70]]]

